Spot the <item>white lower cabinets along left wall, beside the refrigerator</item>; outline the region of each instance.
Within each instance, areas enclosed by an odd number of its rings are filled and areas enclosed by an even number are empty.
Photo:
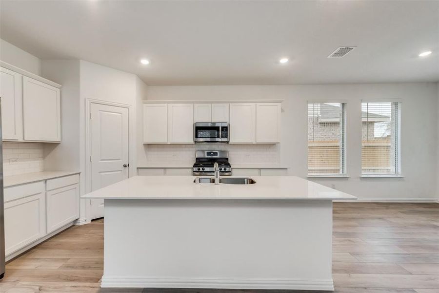
[[[79,200],[79,175],[4,188],[6,259],[78,219]]]

